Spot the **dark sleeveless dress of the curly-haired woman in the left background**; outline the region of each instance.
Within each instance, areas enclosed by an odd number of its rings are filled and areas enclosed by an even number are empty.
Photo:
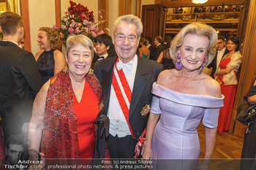
[[[44,51],[37,59],[37,69],[45,84],[50,77],[54,76],[54,50]]]

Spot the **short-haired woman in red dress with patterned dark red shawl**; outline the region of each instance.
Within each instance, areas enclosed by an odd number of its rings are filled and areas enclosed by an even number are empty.
[[[94,46],[84,35],[67,38],[67,66],[50,78],[34,100],[30,149],[45,158],[92,158],[94,123],[102,111],[102,88],[92,71]],[[43,133],[42,133],[43,132]]]

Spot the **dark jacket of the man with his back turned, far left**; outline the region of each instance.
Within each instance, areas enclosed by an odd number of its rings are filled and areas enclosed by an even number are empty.
[[[42,87],[34,55],[12,42],[0,42],[0,114],[4,139],[20,134],[31,119],[35,96]]]

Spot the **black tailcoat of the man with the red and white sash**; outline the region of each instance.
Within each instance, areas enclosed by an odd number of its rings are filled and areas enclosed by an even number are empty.
[[[105,113],[108,113],[113,67],[116,58],[112,57],[97,61],[94,66],[94,74],[102,85]],[[163,69],[162,64],[138,56],[135,84],[129,107],[129,124],[131,125],[135,139],[138,139],[146,128],[149,114],[142,116],[140,112],[146,104],[151,104],[153,96],[151,93],[152,84],[157,81],[158,74]]]

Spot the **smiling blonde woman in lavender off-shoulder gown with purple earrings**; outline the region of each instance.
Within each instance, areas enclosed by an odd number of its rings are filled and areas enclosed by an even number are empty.
[[[171,43],[170,55],[176,61],[176,69],[161,72],[153,84],[143,159],[178,161],[155,161],[154,169],[197,168],[196,159],[200,155],[197,126],[202,117],[206,138],[204,158],[211,158],[214,152],[219,107],[223,106],[224,97],[219,83],[202,70],[214,58],[216,44],[217,32],[203,23],[185,26]]]

